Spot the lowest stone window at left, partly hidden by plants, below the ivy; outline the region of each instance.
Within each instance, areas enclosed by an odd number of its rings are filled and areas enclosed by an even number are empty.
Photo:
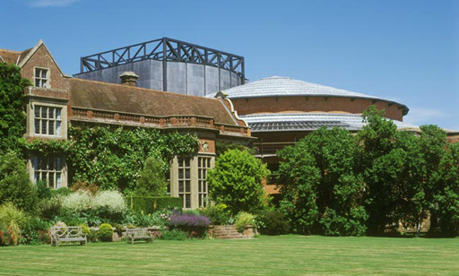
[[[51,160],[51,161],[50,161]],[[65,156],[60,154],[40,155],[30,157],[30,180],[37,184],[39,180],[45,180],[53,189],[66,186]],[[44,177],[45,176],[45,177]],[[51,181],[50,181],[51,179]]]

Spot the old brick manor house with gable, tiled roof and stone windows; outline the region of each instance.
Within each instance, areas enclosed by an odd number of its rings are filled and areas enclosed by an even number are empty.
[[[69,125],[129,125],[195,134],[198,153],[170,161],[170,194],[183,199],[184,208],[203,206],[205,175],[215,160],[215,142],[247,144],[254,140],[238,118],[230,99],[207,99],[136,87],[135,73],[122,73],[121,84],[72,78],[62,72],[39,43],[24,51],[0,49],[0,62],[18,65],[33,83],[26,88],[27,131],[31,139],[67,139]],[[65,156],[30,154],[30,180],[45,180],[53,188],[67,183]]]

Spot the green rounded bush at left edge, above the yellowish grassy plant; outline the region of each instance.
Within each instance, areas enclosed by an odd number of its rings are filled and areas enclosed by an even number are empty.
[[[25,163],[14,151],[0,156],[0,204],[13,203],[25,211],[32,211],[37,201]]]

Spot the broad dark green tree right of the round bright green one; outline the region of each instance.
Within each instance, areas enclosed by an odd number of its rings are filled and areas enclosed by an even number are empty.
[[[328,236],[365,234],[365,185],[354,136],[321,128],[279,152],[281,209],[299,232]],[[315,228],[316,226],[316,228]]]

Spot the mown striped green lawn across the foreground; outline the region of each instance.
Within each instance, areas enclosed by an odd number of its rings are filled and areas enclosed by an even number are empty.
[[[0,275],[458,275],[459,238],[252,240],[0,247]]]

